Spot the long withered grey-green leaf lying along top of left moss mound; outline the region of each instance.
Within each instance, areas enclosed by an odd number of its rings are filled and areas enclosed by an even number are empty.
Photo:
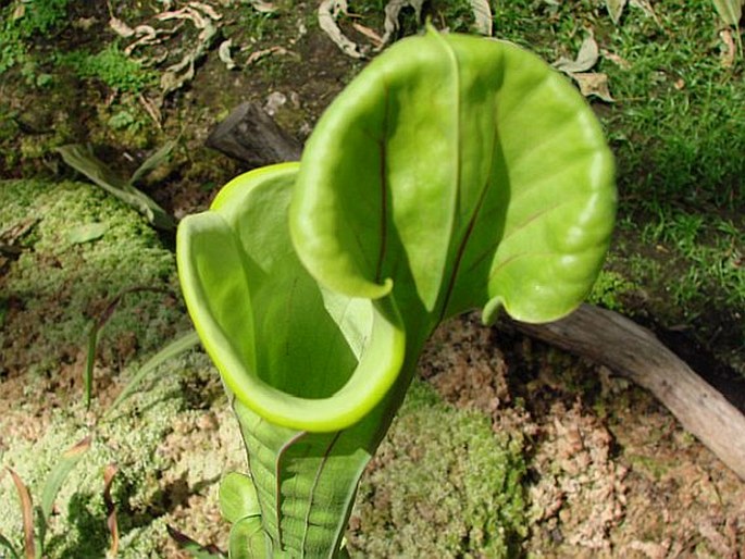
[[[128,181],[113,173],[103,161],[94,156],[90,148],[72,144],[61,146],[57,148],[57,151],[62,156],[65,163],[145,215],[154,227],[164,231],[175,228],[174,219],[163,208],[145,192],[132,186]]]

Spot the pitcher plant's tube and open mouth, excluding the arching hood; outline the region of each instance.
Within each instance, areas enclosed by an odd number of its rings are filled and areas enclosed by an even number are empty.
[[[389,299],[321,289],[298,261],[287,231],[296,174],[286,164],[241,175],[177,234],[187,308],[233,400],[256,487],[234,477],[223,496],[238,521],[234,557],[338,549],[359,477],[414,371]],[[253,493],[265,541],[238,518],[254,511]]]

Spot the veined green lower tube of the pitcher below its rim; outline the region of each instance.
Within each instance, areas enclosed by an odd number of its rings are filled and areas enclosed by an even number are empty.
[[[385,434],[414,368],[361,421],[336,433],[274,425],[234,400],[269,536],[266,557],[335,557],[359,479]],[[253,517],[256,518],[256,517]],[[261,556],[259,556],[261,557]]]

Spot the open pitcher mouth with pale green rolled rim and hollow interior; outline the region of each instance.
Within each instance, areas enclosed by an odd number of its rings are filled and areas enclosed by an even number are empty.
[[[186,218],[178,273],[231,392],[277,425],[332,432],[385,396],[403,360],[403,332],[390,300],[322,291],[302,268],[286,225],[296,174],[297,164],[283,164],[241,175],[211,211]],[[363,348],[353,347],[360,332]]]

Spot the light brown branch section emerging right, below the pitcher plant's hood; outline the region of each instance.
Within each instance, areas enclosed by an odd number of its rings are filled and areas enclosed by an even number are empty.
[[[745,480],[745,417],[647,328],[591,305],[549,324],[510,324],[531,337],[604,364],[648,389],[688,432]]]

